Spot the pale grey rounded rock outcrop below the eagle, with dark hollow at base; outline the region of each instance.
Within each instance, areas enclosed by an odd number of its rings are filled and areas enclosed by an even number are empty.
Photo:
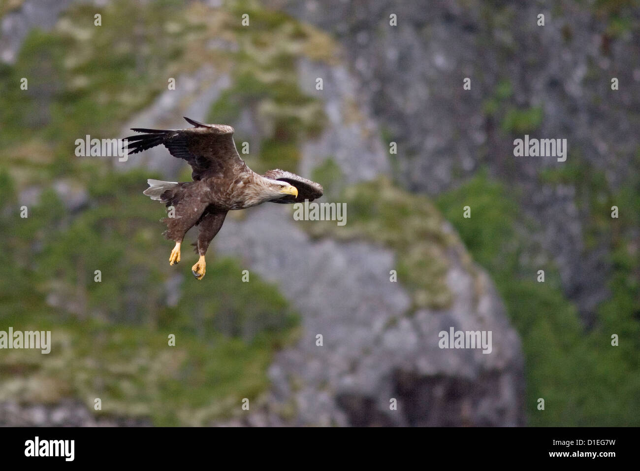
[[[451,231],[446,222],[438,224],[443,233]],[[276,281],[304,313],[300,342],[269,368],[273,390],[264,411],[232,423],[524,424],[520,340],[491,281],[469,265],[459,241],[445,251],[452,302],[415,311],[410,293],[389,281],[398,266],[393,251],[367,242],[310,240],[282,208],[232,222],[216,247]],[[438,333],[450,327],[492,331],[493,352],[440,349]]]

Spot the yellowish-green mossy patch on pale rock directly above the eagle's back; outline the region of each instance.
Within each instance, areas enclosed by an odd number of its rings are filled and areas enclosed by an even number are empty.
[[[326,122],[323,104],[300,90],[296,56],[330,60],[333,45],[281,12],[257,2],[232,4],[237,18],[249,15],[250,28],[234,24],[239,49],[232,53],[233,85],[212,104],[207,122],[234,124],[253,110],[266,138],[257,157],[243,156],[253,170],[296,168],[300,146],[319,135]],[[245,140],[237,135],[238,142]],[[248,141],[248,139],[246,139]]]

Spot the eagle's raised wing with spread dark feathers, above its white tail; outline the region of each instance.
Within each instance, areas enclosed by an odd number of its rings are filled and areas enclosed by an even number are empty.
[[[223,124],[203,124],[185,117],[195,126],[187,129],[145,129],[131,131],[144,133],[127,137],[129,154],[146,151],[163,144],[172,156],[188,161],[193,169],[191,178],[200,180],[209,174],[236,175],[246,168],[237,153],[234,128]]]

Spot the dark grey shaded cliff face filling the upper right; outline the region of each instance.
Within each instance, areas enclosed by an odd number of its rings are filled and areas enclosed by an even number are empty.
[[[593,322],[611,269],[593,199],[604,201],[607,190],[589,194],[582,178],[557,185],[543,174],[582,167],[602,172],[610,192],[630,185],[640,144],[634,2],[267,3],[339,39],[358,100],[398,143],[396,176],[406,188],[442,194],[486,167],[522,194],[523,213],[541,226],[527,231],[536,249],[524,257],[556,263],[564,292]],[[566,162],[514,157],[513,140],[525,134],[566,138]]]

